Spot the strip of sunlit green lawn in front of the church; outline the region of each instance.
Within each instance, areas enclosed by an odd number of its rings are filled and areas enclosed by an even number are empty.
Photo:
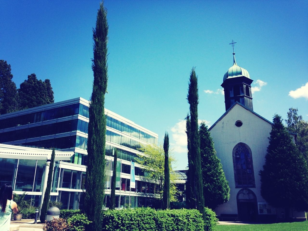
[[[305,231],[308,221],[260,225],[217,225],[216,231]]]

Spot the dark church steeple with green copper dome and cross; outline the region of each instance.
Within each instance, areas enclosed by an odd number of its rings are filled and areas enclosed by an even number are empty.
[[[234,46],[233,40],[230,44]],[[221,84],[221,87],[225,91],[226,111],[236,101],[253,110],[251,95],[252,82],[253,80],[250,79],[248,71],[237,65],[233,50],[233,66],[225,73],[223,83]]]

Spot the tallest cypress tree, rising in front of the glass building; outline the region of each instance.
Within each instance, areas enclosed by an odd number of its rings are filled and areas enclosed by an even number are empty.
[[[105,93],[107,91],[107,10],[100,3],[96,27],[93,29],[92,70],[94,75],[93,91],[89,105],[88,162],[85,213],[90,221],[87,230],[102,228],[102,209],[104,205],[106,116],[104,114]]]

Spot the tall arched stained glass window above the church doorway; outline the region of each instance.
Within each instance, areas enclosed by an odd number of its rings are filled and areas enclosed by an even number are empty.
[[[249,146],[238,143],[233,148],[233,168],[236,188],[255,188],[252,154]]]

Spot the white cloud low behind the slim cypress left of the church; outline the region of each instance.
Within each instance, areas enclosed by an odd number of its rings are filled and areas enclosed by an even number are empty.
[[[198,124],[204,121],[206,125],[210,125],[208,120],[198,120]],[[187,152],[187,135],[186,135],[186,120],[180,120],[172,128],[172,139],[173,142],[170,142],[174,152]]]

